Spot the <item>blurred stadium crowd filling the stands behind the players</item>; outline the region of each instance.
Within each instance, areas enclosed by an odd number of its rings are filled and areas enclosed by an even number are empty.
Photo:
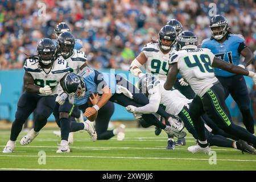
[[[256,2],[253,0],[0,0],[0,69],[21,69],[42,38],[55,39],[53,29],[66,22],[83,43],[89,64],[128,70],[131,61],[172,18],[201,40],[210,37],[209,3],[225,15],[231,30],[256,49]],[[42,9],[46,7],[46,11]]]

